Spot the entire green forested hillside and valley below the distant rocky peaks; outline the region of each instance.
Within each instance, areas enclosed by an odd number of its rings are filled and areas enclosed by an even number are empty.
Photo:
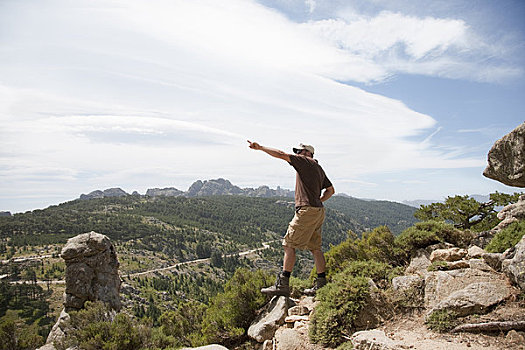
[[[65,266],[58,253],[68,238],[90,231],[107,235],[115,244],[128,313],[158,327],[168,322],[167,317],[180,318],[184,310],[202,314],[210,308],[212,320],[206,323],[216,324],[214,319],[221,309],[213,311],[210,305],[231,293],[225,281],[236,270],[263,269],[268,273],[279,269],[280,239],[293,215],[294,203],[289,197],[126,195],[74,200],[0,217],[0,323],[19,326],[0,333],[33,346],[43,343],[60,312],[64,292],[60,284],[51,283],[64,278]],[[377,223],[398,232],[400,225],[414,220],[411,208],[396,203],[333,197],[327,202],[324,249],[345,241],[349,231],[361,234]],[[229,255],[261,249],[263,242],[271,243],[257,254]],[[210,259],[192,263],[202,258]],[[157,273],[159,268],[186,262],[189,264]],[[294,276],[307,277],[312,266],[309,252],[298,252]],[[268,276],[265,284],[271,283]],[[45,282],[46,287],[37,281]],[[39,300],[42,303],[36,303]],[[169,310],[176,311],[171,315]],[[200,321],[196,325],[200,327]],[[180,332],[184,336],[177,337],[175,344],[199,344],[186,338],[193,332],[199,339],[206,334],[203,342],[215,342],[223,331],[183,327]],[[237,339],[236,332],[225,332]]]

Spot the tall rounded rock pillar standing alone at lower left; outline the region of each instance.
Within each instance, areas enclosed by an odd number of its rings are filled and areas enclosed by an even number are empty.
[[[89,232],[70,238],[61,257],[66,262],[64,310],[41,350],[53,350],[53,343],[65,338],[69,312],[81,309],[86,301],[103,301],[114,311],[121,308],[119,262],[108,237]]]

